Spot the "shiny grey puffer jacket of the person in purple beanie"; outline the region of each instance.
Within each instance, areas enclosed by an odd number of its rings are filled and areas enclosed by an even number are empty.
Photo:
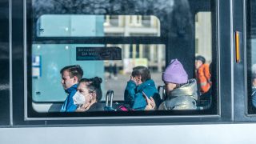
[[[172,90],[158,110],[196,110],[197,91],[196,80],[190,79],[185,85]]]

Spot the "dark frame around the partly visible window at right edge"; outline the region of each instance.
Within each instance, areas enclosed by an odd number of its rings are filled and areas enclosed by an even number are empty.
[[[237,1],[239,2],[239,1]],[[241,3],[241,2],[240,2]],[[236,109],[236,119],[239,122],[251,122],[251,121],[256,121],[256,108],[252,106],[251,103],[251,66],[252,63],[250,62],[251,60],[251,43],[250,43],[250,30],[251,30],[251,21],[250,21],[250,1],[245,1],[243,2],[243,7],[240,8],[238,5],[235,5],[237,10],[243,10],[243,14],[238,14],[237,17],[242,17],[243,18],[243,23],[241,22],[236,22],[235,24],[237,25],[238,28],[242,29],[242,35],[244,38],[244,43],[242,43],[242,46],[245,48],[242,50],[242,60],[243,66],[236,66],[236,70],[241,70],[243,71],[243,75],[239,75],[239,77],[242,77],[238,79],[238,83],[242,85],[242,92],[235,94],[235,98],[240,101],[236,102],[237,104],[237,109]],[[256,9],[254,9],[256,10]],[[243,27],[241,27],[241,25]],[[243,94],[242,94],[243,93]],[[239,103],[242,103],[244,105],[239,105]]]

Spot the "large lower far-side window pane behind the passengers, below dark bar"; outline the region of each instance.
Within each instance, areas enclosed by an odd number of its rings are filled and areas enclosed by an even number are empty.
[[[165,67],[165,45],[107,44],[106,47],[122,49],[122,60],[77,61],[77,47],[98,47],[102,45],[56,45],[32,46],[32,98],[34,109],[46,112],[52,103],[56,107],[66,99],[60,70],[64,66],[79,65],[84,71],[83,78],[102,78],[102,101],[107,90],[114,90],[114,101],[124,101],[126,83],[135,66],[146,66],[156,86],[162,86],[162,70]],[[132,51],[130,51],[132,47]],[[137,50],[138,48],[138,50]],[[59,58],[58,54],[63,58]],[[43,104],[42,104],[43,103]],[[48,103],[48,104],[47,104]],[[42,107],[42,105],[46,105]],[[56,108],[55,107],[55,108]],[[54,109],[53,109],[54,110]]]

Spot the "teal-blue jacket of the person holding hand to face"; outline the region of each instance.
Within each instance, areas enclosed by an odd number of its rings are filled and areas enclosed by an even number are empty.
[[[135,82],[131,80],[127,82],[125,104],[128,104],[134,110],[144,110],[146,107],[146,99],[144,98],[142,91],[148,98],[154,98],[157,107],[160,105],[161,98],[152,79],[143,82],[139,86],[136,86]]]

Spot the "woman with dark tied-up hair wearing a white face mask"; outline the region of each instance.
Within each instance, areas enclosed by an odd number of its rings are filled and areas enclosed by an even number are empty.
[[[74,105],[78,106],[76,111],[104,110],[104,103],[101,103],[102,78],[82,78],[78,84],[78,91],[74,94]]]

